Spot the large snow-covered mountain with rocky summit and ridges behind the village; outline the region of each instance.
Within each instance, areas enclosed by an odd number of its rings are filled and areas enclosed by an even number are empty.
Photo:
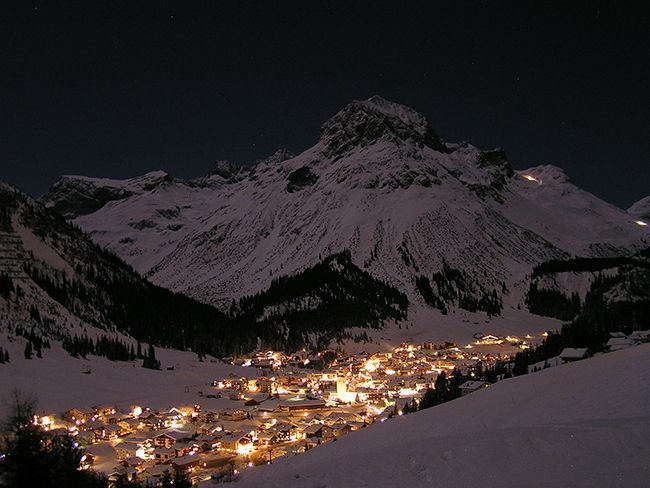
[[[297,156],[220,162],[195,180],[66,176],[43,201],[154,283],[220,304],[349,250],[418,306],[423,276],[448,308],[463,293],[516,307],[535,264],[648,243],[628,213],[561,169],[515,171],[504,151],[447,143],[425,117],[377,96],[347,105]],[[436,281],[445,268],[471,287]]]

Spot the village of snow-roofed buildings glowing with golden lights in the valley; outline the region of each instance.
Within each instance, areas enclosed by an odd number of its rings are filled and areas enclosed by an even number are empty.
[[[306,353],[261,351],[237,361],[252,368],[250,377],[216,379],[209,391],[201,392],[201,403],[222,408],[196,404],[119,411],[98,406],[34,421],[50,435],[72,435],[84,449],[84,467],[109,479],[126,474],[155,484],[165,471],[175,470],[187,472],[193,482],[232,476],[400,415],[407,403],[434,387],[443,371],[458,368],[468,374],[477,361],[508,359],[502,343],[496,342],[500,339],[493,337],[464,347],[423,343],[372,354],[336,357],[330,352],[329,365],[319,370],[308,365],[322,354],[310,358]],[[470,380],[461,391],[485,386]]]

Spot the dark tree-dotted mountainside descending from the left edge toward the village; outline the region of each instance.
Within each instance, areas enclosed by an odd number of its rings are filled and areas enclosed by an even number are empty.
[[[152,285],[59,214],[1,182],[0,202],[3,328],[35,328],[56,339],[100,329],[217,353],[241,345],[215,308]]]

